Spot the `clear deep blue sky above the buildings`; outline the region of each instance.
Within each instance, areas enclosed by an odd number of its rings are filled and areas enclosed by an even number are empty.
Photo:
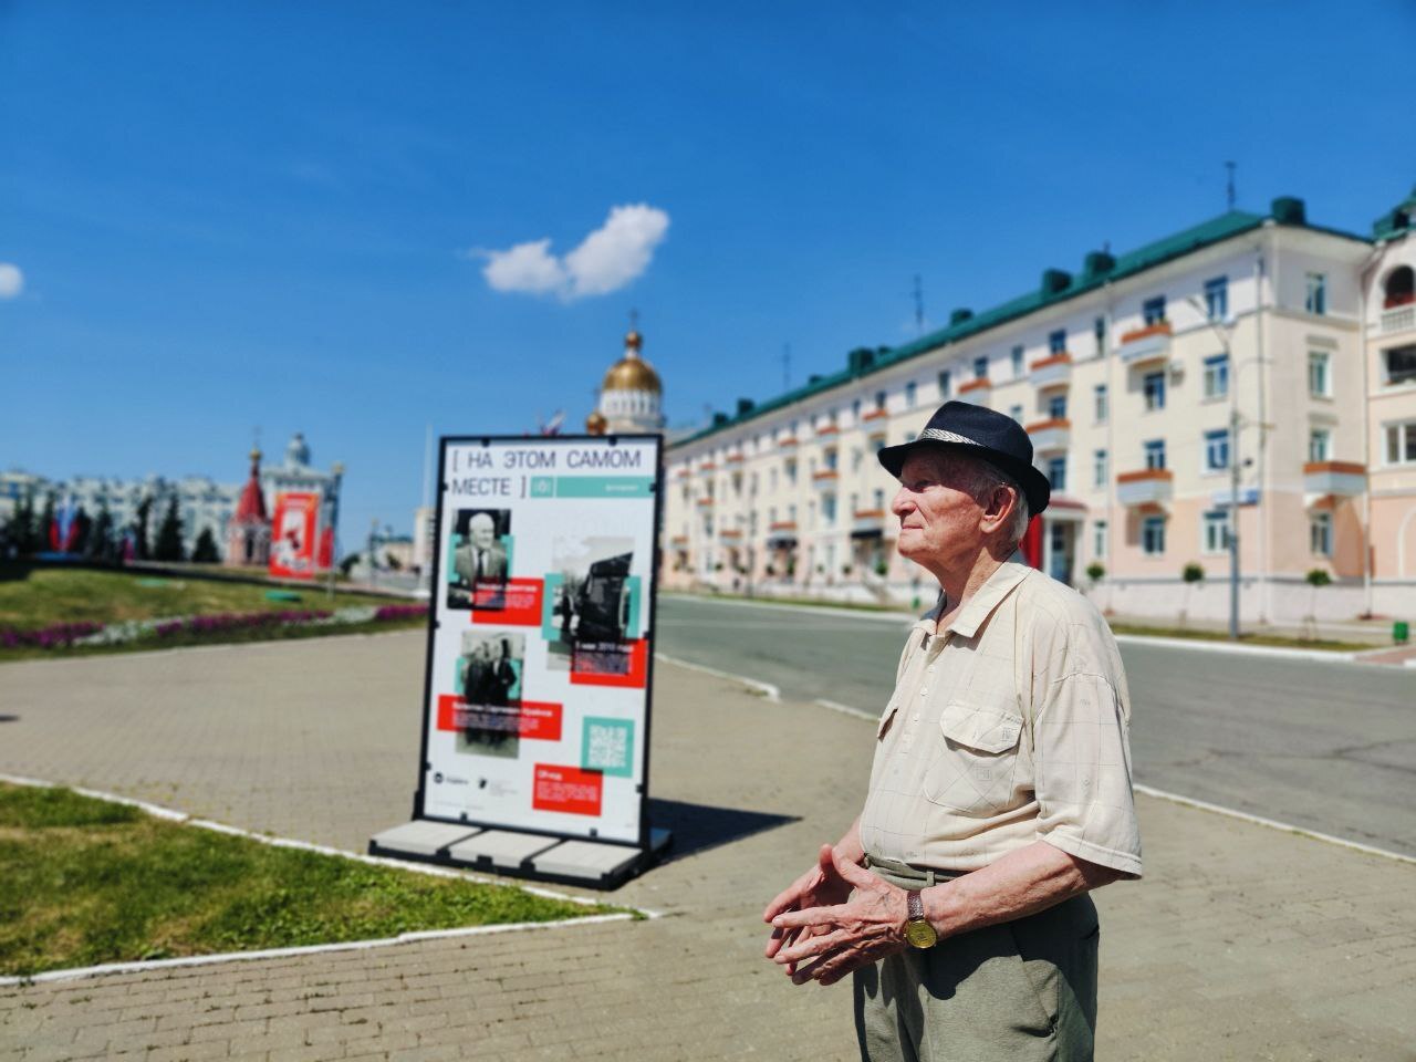
[[[916,273],[940,323],[1219,214],[1228,159],[1368,232],[1413,40],[1399,0],[0,1],[0,466],[235,481],[303,430],[346,541],[406,531],[425,425],[583,422],[632,307],[684,425],[783,344],[801,382],[910,338]],[[484,278],[636,204],[616,290]]]

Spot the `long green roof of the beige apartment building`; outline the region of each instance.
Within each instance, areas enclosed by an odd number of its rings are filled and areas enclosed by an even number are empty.
[[[1280,204],[1283,204],[1281,208]],[[1296,204],[1296,214],[1293,212],[1293,204]],[[1369,242],[1366,238],[1352,235],[1351,232],[1340,232],[1338,229],[1330,229],[1320,225],[1308,225],[1303,221],[1303,204],[1297,200],[1274,200],[1274,214],[1279,215],[1274,219],[1289,228],[1308,228],[1317,232],[1342,236],[1345,239]],[[1049,269],[1044,275],[1042,286],[1035,287],[1027,295],[1020,295],[1017,299],[1010,299],[1008,302],[994,306],[990,310],[959,320],[944,329],[932,331],[927,336],[920,336],[918,340],[906,343],[901,347],[879,347],[877,348],[878,353],[874,360],[868,365],[858,368],[847,367],[828,375],[811,377],[811,379],[803,387],[793,388],[792,391],[776,395],[775,398],[769,398],[767,401],[760,402],[736,416],[716,413],[714,423],[684,436],[673,443],[673,446],[684,446],[709,435],[716,435],[718,432],[746,423],[748,421],[753,421],[775,409],[780,409],[782,406],[787,406],[793,402],[800,402],[801,399],[830,391],[841,384],[848,384],[852,379],[862,379],[864,377],[881,372],[886,368],[898,365],[902,361],[926,354],[927,351],[939,350],[940,347],[947,347],[953,343],[961,343],[963,340],[977,336],[978,333],[997,329],[1001,324],[1007,324],[1018,317],[1025,317],[1044,307],[1055,306],[1056,303],[1063,303],[1069,299],[1076,299],[1087,292],[1102,287],[1106,283],[1134,276],[1146,272],[1147,269],[1154,269],[1165,262],[1194,253],[1201,248],[1206,248],[1226,239],[1233,239],[1245,232],[1252,232],[1253,229],[1260,228],[1272,217],[1273,215],[1249,214],[1232,210],[1216,218],[1201,222],[1199,225],[1194,225],[1181,232],[1165,236],[1164,239],[1146,244],[1136,251],[1117,255],[1114,265],[1112,265],[1110,269],[1106,269],[1104,262],[1097,263],[1099,268],[1095,272],[1083,270],[1075,276]],[[1092,263],[1093,258],[1093,255],[1087,255],[1087,262]]]

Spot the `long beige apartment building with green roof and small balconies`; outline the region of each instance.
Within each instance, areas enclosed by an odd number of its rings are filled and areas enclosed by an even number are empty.
[[[1027,428],[1054,493],[1025,552],[1104,609],[1225,617],[1236,531],[1246,623],[1416,619],[1413,214],[1231,211],[741,399],[667,452],[663,585],[927,600],[875,450],[957,398]]]

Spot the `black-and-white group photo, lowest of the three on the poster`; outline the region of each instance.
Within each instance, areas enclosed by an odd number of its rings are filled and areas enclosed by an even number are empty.
[[[521,750],[525,634],[464,630],[455,691],[457,752],[515,759]]]

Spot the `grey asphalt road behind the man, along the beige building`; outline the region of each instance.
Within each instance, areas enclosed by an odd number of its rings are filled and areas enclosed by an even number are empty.
[[[878,712],[908,624],[658,600],[657,649]],[[1416,670],[1123,644],[1136,782],[1416,857]]]

